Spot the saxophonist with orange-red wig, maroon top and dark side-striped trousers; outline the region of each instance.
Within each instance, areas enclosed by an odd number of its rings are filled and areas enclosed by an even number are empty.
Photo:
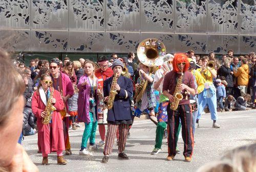
[[[184,141],[183,155],[186,162],[192,160],[194,137],[191,128],[191,109],[189,105],[189,97],[196,94],[196,86],[191,72],[187,71],[189,63],[185,54],[176,54],[173,60],[173,70],[168,72],[164,77],[163,94],[168,97],[170,103],[167,106],[168,115],[168,156],[167,160],[172,161],[176,155],[177,131],[179,128],[179,120],[182,125],[182,138]],[[180,83],[177,85],[177,83]],[[175,92],[175,90],[178,90]],[[178,101],[175,97],[176,93],[183,95],[182,100]],[[176,102],[178,107],[176,110],[170,109],[170,104]]]

